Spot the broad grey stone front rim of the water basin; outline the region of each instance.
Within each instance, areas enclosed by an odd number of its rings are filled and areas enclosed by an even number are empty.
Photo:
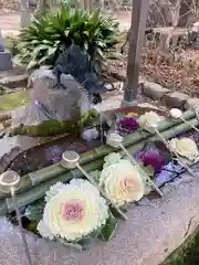
[[[197,189],[197,182],[190,176],[184,173],[184,176],[177,178],[177,181],[163,188],[164,200],[148,201],[145,198],[138,203],[138,206],[128,211],[128,221],[121,223],[118,232],[112,241],[106,244],[94,244],[91,251],[84,253],[76,253],[61,244],[49,244],[46,241],[29,234],[28,241],[33,261],[36,265],[54,263],[63,265],[124,265],[132,264],[133,261],[136,265],[157,265],[164,261],[174,247],[181,243],[187,227],[186,224],[189,223],[190,218],[192,215],[196,220],[199,218],[195,211],[195,206],[199,203]],[[1,227],[4,232],[1,229],[0,232],[7,234],[8,239],[8,244],[2,244],[3,264],[11,265],[12,257],[17,255],[14,263],[27,265],[20,240],[18,240],[17,229],[11,227],[8,222],[3,224],[4,226]],[[6,230],[10,233],[6,233]],[[188,233],[191,230],[192,225]],[[177,240],[174,242],[174,239]],[[10,256],[6,254],[8,250],[11,253]]]

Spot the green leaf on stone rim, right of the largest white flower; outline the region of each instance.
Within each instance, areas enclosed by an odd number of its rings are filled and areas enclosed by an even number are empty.
[[[108,241],[113,237],[116,229],[118,226],[118,221],[111,214],[106,225],[102,229],[100,239],[103,241]]]

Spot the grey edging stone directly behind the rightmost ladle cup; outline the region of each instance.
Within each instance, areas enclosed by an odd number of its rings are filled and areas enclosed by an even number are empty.
[[[164,95],[163,97],[163,102],[166,106],[177,108],[184,108],[187,99],[188,95],[181,92],[171,92],[169,94]]]

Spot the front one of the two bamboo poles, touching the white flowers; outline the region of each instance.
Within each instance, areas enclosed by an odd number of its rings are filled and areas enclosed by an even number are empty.
[[[190,123],[190,125],[197,126],[198,125],[198,119],[197,118],[190,119],[189,123]],[[177,134],[181,134],[181,132],[185,132],[187,130],[190,130],[190,128],[191,128],[190,125],[180,124],[180,125],[176,126],[175,129],[174,129],[174,127],[171,127],[171,128],[163,131],[161,134],[167,139],[172,138]],[[153,135],[151,137],[148,138],[148,140],[157,140],[157,139],[158,139],[158,136],[156,136],[156,135]],[[136,145],[133,145],[133,146],[128,147],[127,149],[132,153],[133,151],[142,148],[143,145],[145,145],[145,140],[140,141],[139,144],[137,142]],[[119,152],[123,153],[123,151],[119,151]],[[101,169],[103,163],[104,163],[104,161],[101,158],[101,159],[97,159],[93,162],[84,165],[83,168],[87,172],[90,172],[90,171],[93,171],[93,170]],[[24,191],[20,194],[17,194],[17,198],[19,200],[19,205],[24,206],[24,205],[28,205],[30,203],[33,203],[34,201],[43,198],[45,192],[50,189],[50,187],[52,184],[55,184],[59,181],[66,182],[74,177],[75,178],[81,178],[83,176],[77,169],[71,170],[70,172],[62,173],[62,174],[57,176],[56,178],[53,178],[51,180],[48,180],[48,181],[41,183],[38,187],[32,187],[31,189],[29,189],[29,190],[27,190],[27,191]],[[14,210],[14,208],[13,208],[13,203],[12,203],[11,198],[6,198],[6,199],[0,200],[0,216],[6,215],[7,213],[9,213],[13,210]]]

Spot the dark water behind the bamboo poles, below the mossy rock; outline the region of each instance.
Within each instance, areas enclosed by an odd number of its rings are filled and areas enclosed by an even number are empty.
[[[23,151],[13,158],[7,165],[4,171],[9,168],[21,176],[29,172],[34,172],[42,168],[57,163],[62,159],[62,153],[65,150],[73,150],[78,153],[92,150],[102,145],[101,139],[85,141],[81,137],[65,136],[52,141],[48,141],[40,146],[35,146],[27,151]]]

